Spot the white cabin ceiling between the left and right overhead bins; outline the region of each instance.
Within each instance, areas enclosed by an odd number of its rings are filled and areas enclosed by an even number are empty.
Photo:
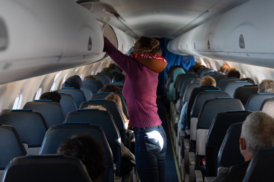
[[[247,1],[99,0],[112,5],[125,19],[123,21],[112,18],[110,24],[135,38],[175,38]]]

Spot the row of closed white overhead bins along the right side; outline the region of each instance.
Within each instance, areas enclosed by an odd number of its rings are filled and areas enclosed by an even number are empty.
[[[249,0],[173,39],[168,50],[274,68],[273,7],[272,0]]]

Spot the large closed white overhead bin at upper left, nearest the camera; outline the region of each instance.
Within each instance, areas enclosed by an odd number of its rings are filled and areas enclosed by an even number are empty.
[[[0,32],[6,32],[0,35],[0,84],[87,65],[104,55],[97,19],[74,1],[2,1],[0,19]]]

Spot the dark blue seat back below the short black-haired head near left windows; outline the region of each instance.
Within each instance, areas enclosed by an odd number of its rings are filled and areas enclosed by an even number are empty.
[[[65,119],[63,108],[60,103],[51,100],[34,100],[27,102],[23,106],[23,109],[40,112],[45,118],[48,127],[55,124],[61,124]]]

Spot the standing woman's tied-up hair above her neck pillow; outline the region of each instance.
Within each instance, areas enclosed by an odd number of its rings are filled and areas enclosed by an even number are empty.
[[[160,42],[154,38],[149,37],[141,37],[139,40],[139,53],[152,53],[156,55],[162,55],[162,51],[160,49]]]

